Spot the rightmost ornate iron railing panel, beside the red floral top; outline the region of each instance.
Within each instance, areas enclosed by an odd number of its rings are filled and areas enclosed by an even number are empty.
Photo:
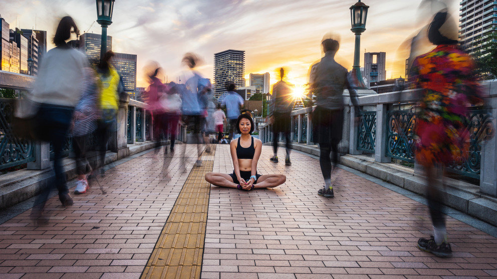
[[[453,161],[446,167],[448,171],[476,179],[480,178],[481,142],[489,135],[487,124],[492,121],[491,113],[485,110],[468,111],[464,122],[467,139],[462,150],[453,150]]]

